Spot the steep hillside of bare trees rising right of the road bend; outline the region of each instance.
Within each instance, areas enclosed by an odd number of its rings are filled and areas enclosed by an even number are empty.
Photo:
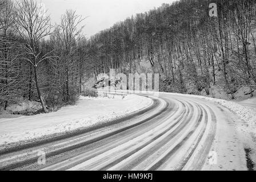
[[[217,4],[217,17],[209,15]],[[256,89],[255,1],[182,0],[131,16],[89,41],[96,73],[133,73],[146,60],[161,75],[161,91],[230,98]]]

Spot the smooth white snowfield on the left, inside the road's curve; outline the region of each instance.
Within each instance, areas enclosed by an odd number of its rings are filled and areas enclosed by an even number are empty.
[[[55,113],[0,119],[0,145],[64,133],[108,122],[151,105],[147,97],[136,95],[109,98],[81,97],[78,104]]]

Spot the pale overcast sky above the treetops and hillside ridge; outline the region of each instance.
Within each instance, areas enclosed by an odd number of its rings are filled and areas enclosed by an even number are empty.
[[[125,20],[131,15],[144,13],[162,3],[172,3],[175,0],[37,0],[45,5],[51,15],[52,23],[59,23],[61,15],[67,9],[77,11],[77,14],[87,17],[83,22],[86,37],[111,27],[114,23]]]

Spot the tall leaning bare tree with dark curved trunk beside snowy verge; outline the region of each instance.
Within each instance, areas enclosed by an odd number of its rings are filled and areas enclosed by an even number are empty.
[[[49,59],[49,53],[42,55],[39,49],[39,42],[51,34],[50,16],[46,15],[43,6],[33,0],[22,0],[17,2],[16,10],[17,30],[25,40],[24,49],[29,58],[27,61],[34,68],[34,82],[37,88],[39,100],[45,113],[48,112],[45,102],[43,101],[41,90],[38,82],[38,70],[41,63]]]

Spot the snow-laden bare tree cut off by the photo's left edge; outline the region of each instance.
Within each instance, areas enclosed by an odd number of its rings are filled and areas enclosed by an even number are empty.
[[[0,1],[0,8],[0,105],[6,109],[22,92],[19,90],[22,79],[19,79],[18,64],[22,51],[15,39],[13,1]]]

